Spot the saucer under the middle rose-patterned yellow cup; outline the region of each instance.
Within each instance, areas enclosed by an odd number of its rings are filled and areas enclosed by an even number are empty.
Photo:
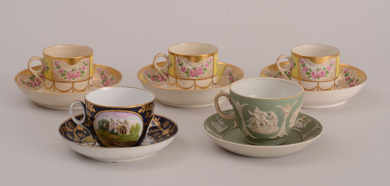
[[[157,63],[163,66],[166,62]],[[165,71],[166,72],[166,71]],[[213,88],[200,90],[168,89],[167,80],[159,75],[153,65],[143,67],[137,73],[142,86],[156,94],[156,99],[172,107],[203,108],[214,105],[214,96],[220,90],[229,92],[229,85],[244,77],[244,72],[233,65],[218,62],[217,83]],[[225,99],[220,99],[220,102]]]

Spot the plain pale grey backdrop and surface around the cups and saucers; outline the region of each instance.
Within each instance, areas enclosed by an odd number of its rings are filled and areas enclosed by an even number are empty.
[[[386,0],[2,0],[0,185],[389,185],[389,6]],[[14,82],[45,47],[75,43],[92,47],[95,63],[120,70],[121,85],[141,87],[140,68],[188,41],[214,44],[219,60],[247,78],[292,46],[328,44],[368,81],[345,105],[302,109],[324,134],[279,158],[240,156],[216,145],[202,130],[214,107],[157,103],[155,112],[175,120],[179,133],[166,149],[130,163],[97,162],[68,148],[57,131],[68,112],[35,105]]]

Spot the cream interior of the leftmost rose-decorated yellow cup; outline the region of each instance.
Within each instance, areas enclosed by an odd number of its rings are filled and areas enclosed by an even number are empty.
[[[64,44],[47,47],[43,50],[43,54],[59,58],[75,58],[93,55],[94,51],[83,45]]]

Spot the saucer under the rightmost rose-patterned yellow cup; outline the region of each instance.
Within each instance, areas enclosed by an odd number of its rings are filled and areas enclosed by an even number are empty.
[[[281,65],[288,65],[288,62],[283,62]],[[342,67],[341,73],[339,78],[336,79],[339,83],[338,87],[329,91],[305,91],[302,107],[311,109],[337,107],[359,93],[367,81],[367,74],[351,65],[340,63],[340,66]],[[286,79],[278,71],[276,64],[261,70],[260,77]]]

